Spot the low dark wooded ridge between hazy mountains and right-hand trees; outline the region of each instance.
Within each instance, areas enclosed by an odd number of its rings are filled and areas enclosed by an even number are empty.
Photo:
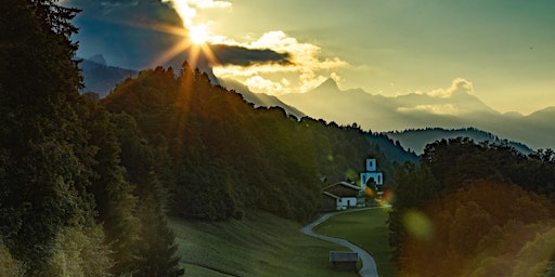
[[[426,128],[426,129],[409,129],[401,132],[384,132],[384,135],[387,137],[399,142],[404,148],[415,151],[418,155],[424,153],[424,147],[427,144],[430,144],[438,140],[448,140],[455,137],[468,137],[473,141],[480,142],[490,142],[494,144],[508,145],[519,150],[520,153],[528,155],[533,150],[530,147],[518,143],[512,142],[508,140],[500,138],[499,136],[485,132],[475,128],[464,128],[464,129],[441,129],[441,128]]]

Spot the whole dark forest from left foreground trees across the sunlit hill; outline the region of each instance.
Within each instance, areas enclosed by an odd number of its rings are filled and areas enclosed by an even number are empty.
[[[182,276],[167,216],[305,222],[320,177],[393,164],[357,124],[255,108],[184,63],[105,98],[79,94],[79,12],[53,0],[0,11],[2,276]],[[389,173],[388,173],[389,172]]]

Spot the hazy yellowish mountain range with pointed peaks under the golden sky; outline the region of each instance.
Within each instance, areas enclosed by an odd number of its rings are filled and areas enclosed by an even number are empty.
[[[462,89],[443,95],[410,93],[387,97],[362,89],[341,91],[328,79],[307,93],[278,97],[307,116],[338,124],[357,122],[374,132],[476,128],[534,149],[555,147],[555,107],[528,116],[501,114]]]

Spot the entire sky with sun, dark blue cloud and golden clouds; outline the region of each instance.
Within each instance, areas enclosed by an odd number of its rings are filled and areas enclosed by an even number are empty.
[[[62,3],[83,9],[76,18],[78,54],[102,53],[121,67],[204,53],[218,78],[271,95],[306,92],[327,78],[343,90],[385,96],[437,94],[464,80],[470,93],[501,113],[555,106],[551,0]],[[179,35],[167,26],[184,30]],[[203,32],[206,44],[194,44],[193,32]]]

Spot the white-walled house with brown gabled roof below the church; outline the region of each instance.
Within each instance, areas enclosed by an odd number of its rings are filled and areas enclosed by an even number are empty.
[[[323,210],[343,210],[347,207],[357,207],[360,187],[345,181],[328,185],[322,189]]]

